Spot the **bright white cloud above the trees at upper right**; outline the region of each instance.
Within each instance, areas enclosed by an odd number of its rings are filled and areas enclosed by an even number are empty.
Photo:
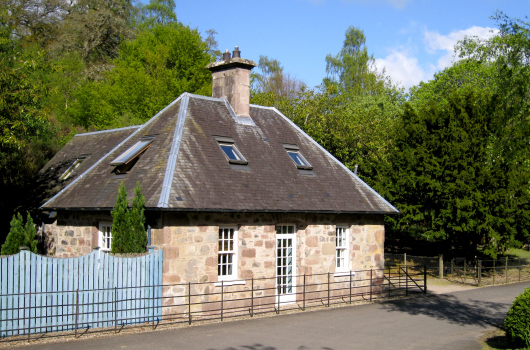
[[[433,57],[433,62],[420,62],[419,59],[406,48],[397,48],[390,51],[385,58],[377,58],[376,67],[379,71],[385,69],[385,74],[392,81],[406,89],[428,81],[434,73],[450,67],[454,60],[454,47],[459,40],[466,36],[476,36],[481,39],[489,38],[497,33],[496,29],[484,27],[471,27],[441,35],[438,32],[424,30],[425,51],[428,57]]]

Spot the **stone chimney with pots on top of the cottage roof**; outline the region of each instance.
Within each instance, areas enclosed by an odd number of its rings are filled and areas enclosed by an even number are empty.
[[[226,50],[222,61],[206,66],[212,72],[212,96],[225,97],[240,117],[250,117],[250,71],[256,66],[253,61],[241,58],[241,51],[237,46],[232,57]]]

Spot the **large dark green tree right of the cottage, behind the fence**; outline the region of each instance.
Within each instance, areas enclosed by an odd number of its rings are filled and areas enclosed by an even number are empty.
[[[389,235],[492,257],[528,238],[530,174],[510,150],[496,149],[503,110],[496,98],[480,94],[453,92],[445,101],[406,104],[387,182],[375,186],[402,213],[389,219]]]

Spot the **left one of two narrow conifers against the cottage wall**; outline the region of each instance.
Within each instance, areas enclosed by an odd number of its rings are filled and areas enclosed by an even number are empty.
[[[112,253],[129,253],[129,209],[127,200],[127,189],[120,185],[116,205],[112,209]]]

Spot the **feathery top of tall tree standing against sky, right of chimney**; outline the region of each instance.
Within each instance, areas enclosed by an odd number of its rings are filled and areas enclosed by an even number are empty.
[[[340,52],[326,56],[326,84],[337,84],[349,95],[377,94],[390,87],[390,80],[375,69],[373,55],[368,54],[364,32],[349,27]]]

